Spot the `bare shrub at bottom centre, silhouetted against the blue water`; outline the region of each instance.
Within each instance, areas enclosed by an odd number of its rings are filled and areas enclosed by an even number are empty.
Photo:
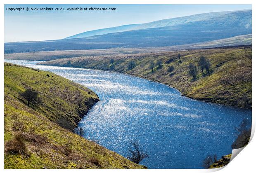
[[[128,156],[127,158],[136,164],[139,164],[140,161],[149,157],[149,155],[142,150],[137,140],[130,143],[128,150],[130,156]]]

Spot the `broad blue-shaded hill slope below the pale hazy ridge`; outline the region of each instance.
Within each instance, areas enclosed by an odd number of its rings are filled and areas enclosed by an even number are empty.
[[[218,15],[213,14],[215,13],[211,13],[211,15],[208,14],[208,17],[202,18],[204,20],[185,20],[183,18],[183,22],[173,21],[173,23],[178,23],[176,25],[170,24],[171,26],[159,28],[129,30],[64,40],[5,43],[5,50],[11,49],[14,52],[25,52],[166,47],[182,44],[194,44],[198,42],[207,42],[235,37],[238,35],[251,34],[251,10],[235,11],[225,14],[217,13]],[[148,24],[147,27],[150,26],[153,27],[157,25]],[[159,24],[159,26],[162,25]]]

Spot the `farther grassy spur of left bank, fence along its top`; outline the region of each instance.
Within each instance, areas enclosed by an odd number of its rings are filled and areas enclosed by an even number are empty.
[[[38,91],[42,99],[41,104],[32,105],[34,110],[71,130],[90,107],[99,101],[90,89],[52,72],[5,66],[5,94],[11,94],[25,103],[20,94],[28,88]]]

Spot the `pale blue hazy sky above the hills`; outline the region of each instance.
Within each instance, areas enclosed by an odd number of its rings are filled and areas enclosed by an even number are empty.
[[[17,7],[25,11],[6,10]],[[116,11],[26,11],[26,7],[102,7]],[[100,28],[241,9],[251,9],[251,5],[5,5],[5,42],[56,40]]]

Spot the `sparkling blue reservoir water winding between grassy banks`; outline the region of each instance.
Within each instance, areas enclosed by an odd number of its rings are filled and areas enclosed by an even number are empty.
[[[50,70],[95,91],[100,97],[79,126],[85,138],[98,140],[123,156],[137,139],[149,157],[148,168],[202,168],[216,153],[230,154],[235,127],[251,121],[251,110],[192,100],[164,84],[100,70],[36,65],[39,61],[5,60]]]

